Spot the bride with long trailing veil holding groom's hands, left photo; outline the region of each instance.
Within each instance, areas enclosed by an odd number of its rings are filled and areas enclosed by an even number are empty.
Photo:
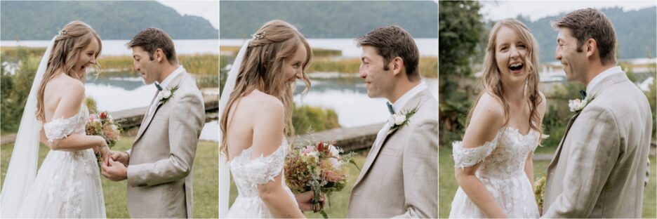
[[[109,148],[102,137],[85,134],[83,104],[86,69],[100,69],[101,48],[98,34],[74,21],[46,49],[2,187],[2,218],[105,218],[94,152],[107,159]],[[36,173],[39,141],[51,150]]]

